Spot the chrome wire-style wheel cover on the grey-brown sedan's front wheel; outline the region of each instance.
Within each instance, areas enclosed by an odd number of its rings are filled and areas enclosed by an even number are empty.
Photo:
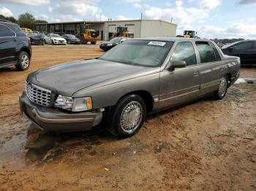
[[[143,120],[143,106],[138,101],[132,101],[124,107],[121,113],[121,129],[133,133]]]

